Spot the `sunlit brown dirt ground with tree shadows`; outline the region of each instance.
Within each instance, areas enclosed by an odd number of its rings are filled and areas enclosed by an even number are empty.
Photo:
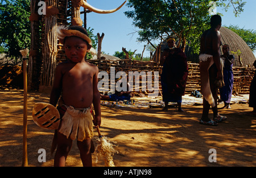
[[[39,92],[28,93],[28,166],[53,166],[50,146],[53,130],[39,128],[32,121],[32,107],[49,101]],[[185,113],[170,108],[117,108],[102,106],[101,133],[117,142],[115,166],[256,166],[256,117],[247,115],[247,104],[221,109],[228,120],[218,126],[199,124],[201,105],[184,105]],[[0,166],[21,166],[23,91],[0,90]],[[212,117],[212,112],[210,112]],[[97,137],[96,129],[94,135]],[[96,139],[93,139],[97,144]],[[46,162],[39,163],[39,149],[46,150]],[[210,163],[210,149],[217,162]],[[93,166],[104,166],[103,158]],[[66,166],[82,166],[76,141]]]

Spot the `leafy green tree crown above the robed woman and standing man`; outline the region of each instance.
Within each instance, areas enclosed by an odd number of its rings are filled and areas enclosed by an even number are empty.
[[[138,27],[138,41],[160,43],[167,36],[174,36],[179,41],[177,47],[185,49],[189,41],[194,53],[199,53],[200,36],[209,28],[209,11],[213,6],[228,9],[233,5],[239,14],[245,5],[242,0],[129,0],[127,6],[131,11],[125,15],[133,19],[133,25]],[[228,2],[226,4],[225,2]]]

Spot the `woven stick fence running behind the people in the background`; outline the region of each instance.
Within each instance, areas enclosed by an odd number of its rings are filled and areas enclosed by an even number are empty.
[[[87,60],[90,63],[98,66],[100,71],[106,71],[110,74],[110,67],[114,67],[115,74],[118,71],[124,71],[126,75],[129,75],[129,71],[138,71],[141,73],[145,71],[152,71],[152,86],[154,87],[154,71],[158,71],[159,79],[159,95],[162,94],[162,87],[160,82],[160,75],[162,74],[162,66],[153,61],[131,61],[131,60]],[[234,84],[233,84],[233,94],[249,94],[250,83],[255,75],[255,69],[253,67],[233,67],[234,73]],[[109,77],[110,78],[110,77]],[[128,81],[128,79],[127,79]],[[133,93],[138,94],[142,91],[142,76],[139,76],[139,91],[135,91],[135,84],[133,84]],[[110,84],[109,84],[110,86]],[[138,89],[138,88],[137,88]],[[198,63],[188,62],[188,80],[186,85],[185,94],[191,94],[192,91],[200,91],[200,71]],[[148,90],[143,92],[144,94],[150,93]]]

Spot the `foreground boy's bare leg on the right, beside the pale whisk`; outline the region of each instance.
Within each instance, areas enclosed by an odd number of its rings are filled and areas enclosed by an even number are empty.
[[[90,152],[91,139],[84,139],[83,141],[77,141],[77,147],[80,151],[80,158],[82,160],[82,166],[92,167],[92,153]]]

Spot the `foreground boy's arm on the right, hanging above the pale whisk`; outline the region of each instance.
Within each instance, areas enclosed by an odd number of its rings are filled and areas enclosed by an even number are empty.
[[[96,73],[93,76],[93,108],[95,112],[93,124],[101,126],[101,96],[98,91],[98,67],[96,67]]]

